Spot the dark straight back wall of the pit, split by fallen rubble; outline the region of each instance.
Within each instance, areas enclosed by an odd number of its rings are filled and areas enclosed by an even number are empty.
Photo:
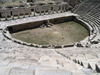
[[[57,23],[71,21],[72,17],[73,16],[54,18],[54,19],[49,19],[49,21],[53,24],[57,24]],[[26,29],[32,29],[32,28],[35,28],[35,27],[39,27],[40,25],[42,25],[44,23],[44,21],[46,21],[46,20],[31,22],[31,23],[25,23],[25,24],[19,24],[19,25],[13,25],[11,27],[9,26],[8,29],[11,33],[26,30]]]

